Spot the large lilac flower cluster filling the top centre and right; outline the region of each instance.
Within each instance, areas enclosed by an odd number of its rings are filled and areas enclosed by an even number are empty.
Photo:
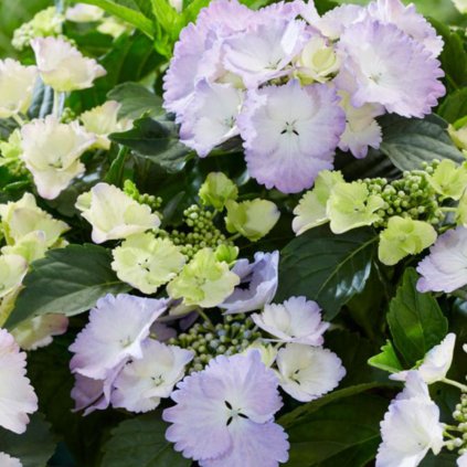
[[[442,47],[399,0],[323,17],[301,0],[258,11],[215,0],[176,44],[164,106],[200,157],[240,135],[253,178],[299,192],[332,168],[338,147],[358,158],[378,148],[375,117],[431,113],[445,92]]]

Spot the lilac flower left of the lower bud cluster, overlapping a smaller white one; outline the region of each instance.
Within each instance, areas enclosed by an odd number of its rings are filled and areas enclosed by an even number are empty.
[[[167,309],[167,300],[127,294],[107,295],[89,312],[89,322],[70,346],[75,353],[74,373],[96,380],[128,358],[141,358],[141,342],[156,319]]]

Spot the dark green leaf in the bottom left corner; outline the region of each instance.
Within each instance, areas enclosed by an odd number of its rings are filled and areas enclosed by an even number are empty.
[[[45,466],[56,446],[50,427],[45,417],[35,413],[22,435],[0,428],[0,453],[17,457],[23,467]]]

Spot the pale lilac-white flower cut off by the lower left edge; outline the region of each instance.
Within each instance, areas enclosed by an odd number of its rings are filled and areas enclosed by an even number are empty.
[[[0,329],[0,426],[24,433],[28,414],[38,410],[38,397],[25,376],[25,353]]]

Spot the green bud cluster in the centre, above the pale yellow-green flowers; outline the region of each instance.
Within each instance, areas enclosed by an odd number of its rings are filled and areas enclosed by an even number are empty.
[[[197,204],[183,211],[184,224],[191,232],[173,230],[170,238],[181,246],[181,252],[190,259],[202,248],[216,250],[220,245],[233,246],[225,235],[215,226],[213,213]]]

